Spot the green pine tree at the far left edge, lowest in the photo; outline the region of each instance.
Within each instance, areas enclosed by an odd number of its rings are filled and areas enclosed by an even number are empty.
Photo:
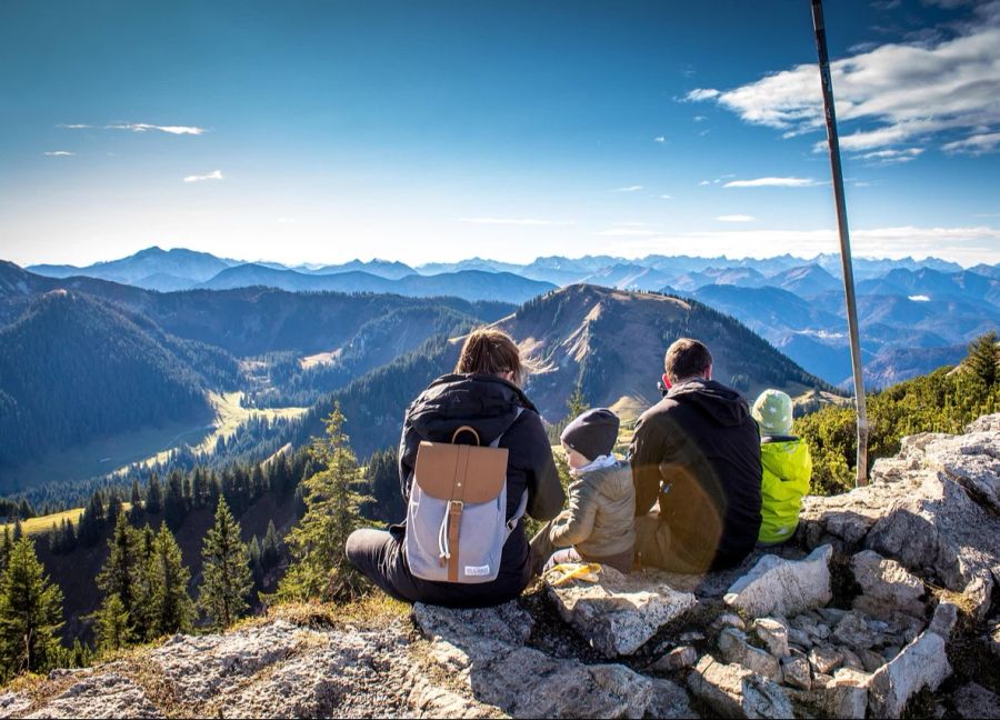
[[[44,574],[31,540],[21,538],[0,578],[0,671],[37,672],[54,664],[61,627],[62,591]]]

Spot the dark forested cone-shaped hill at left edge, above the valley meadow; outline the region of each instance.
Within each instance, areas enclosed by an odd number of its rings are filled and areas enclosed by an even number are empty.
[[[237,379],[222,350],[84,294],[37,297],[0,329],[0,467],[102,434],[210,417],[204,391]]]

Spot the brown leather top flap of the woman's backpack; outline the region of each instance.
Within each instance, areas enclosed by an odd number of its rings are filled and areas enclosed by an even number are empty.
[[[477,448],[423,441],[413,481],[439,500],[489,502],[507,481],[507,448]]]

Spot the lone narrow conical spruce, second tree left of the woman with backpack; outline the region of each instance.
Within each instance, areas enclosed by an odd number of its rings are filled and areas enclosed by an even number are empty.
[[[202,582],[198,604],[217,628],[227,628],[247,610],[247,594],[253,587],[247,546],[240,541],[237,523],[226,500],[216,508],[216,524],[209,529],[201,550]]]

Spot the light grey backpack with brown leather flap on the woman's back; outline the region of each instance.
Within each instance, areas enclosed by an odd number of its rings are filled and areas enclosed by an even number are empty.
[[[476,438],[474,446],[454,444],[463,432]],[[420,443],[404,543],[414,577],[461,584],[497,579],[503,546],[528,507],[526,490],[517,512],[506,519],[508,452],[498,447],[501,437],[481,447],[479,433],[462,426],[450,443]]]

